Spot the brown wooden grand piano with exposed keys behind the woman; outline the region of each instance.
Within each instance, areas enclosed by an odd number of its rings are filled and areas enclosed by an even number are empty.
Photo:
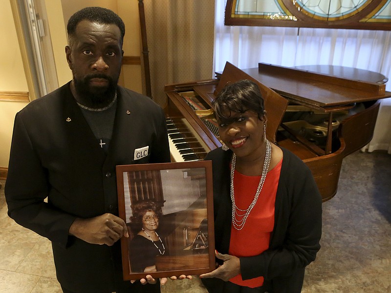
[[[215,79],[166,85],[172,161],[202,160],[221,146],[211,103],[225,84],[249,79],[260,86],[264,98],[267,138],[300,157],[311,169],[323,201],[331,199],[343,158],[369,143],[379,100],[391,97],[391,92],[385,90],[387,79],[377,73],[341,67],[345,74],[330,74],[330,68],[325,73],[259,63],[239,69],[226,63]]]

